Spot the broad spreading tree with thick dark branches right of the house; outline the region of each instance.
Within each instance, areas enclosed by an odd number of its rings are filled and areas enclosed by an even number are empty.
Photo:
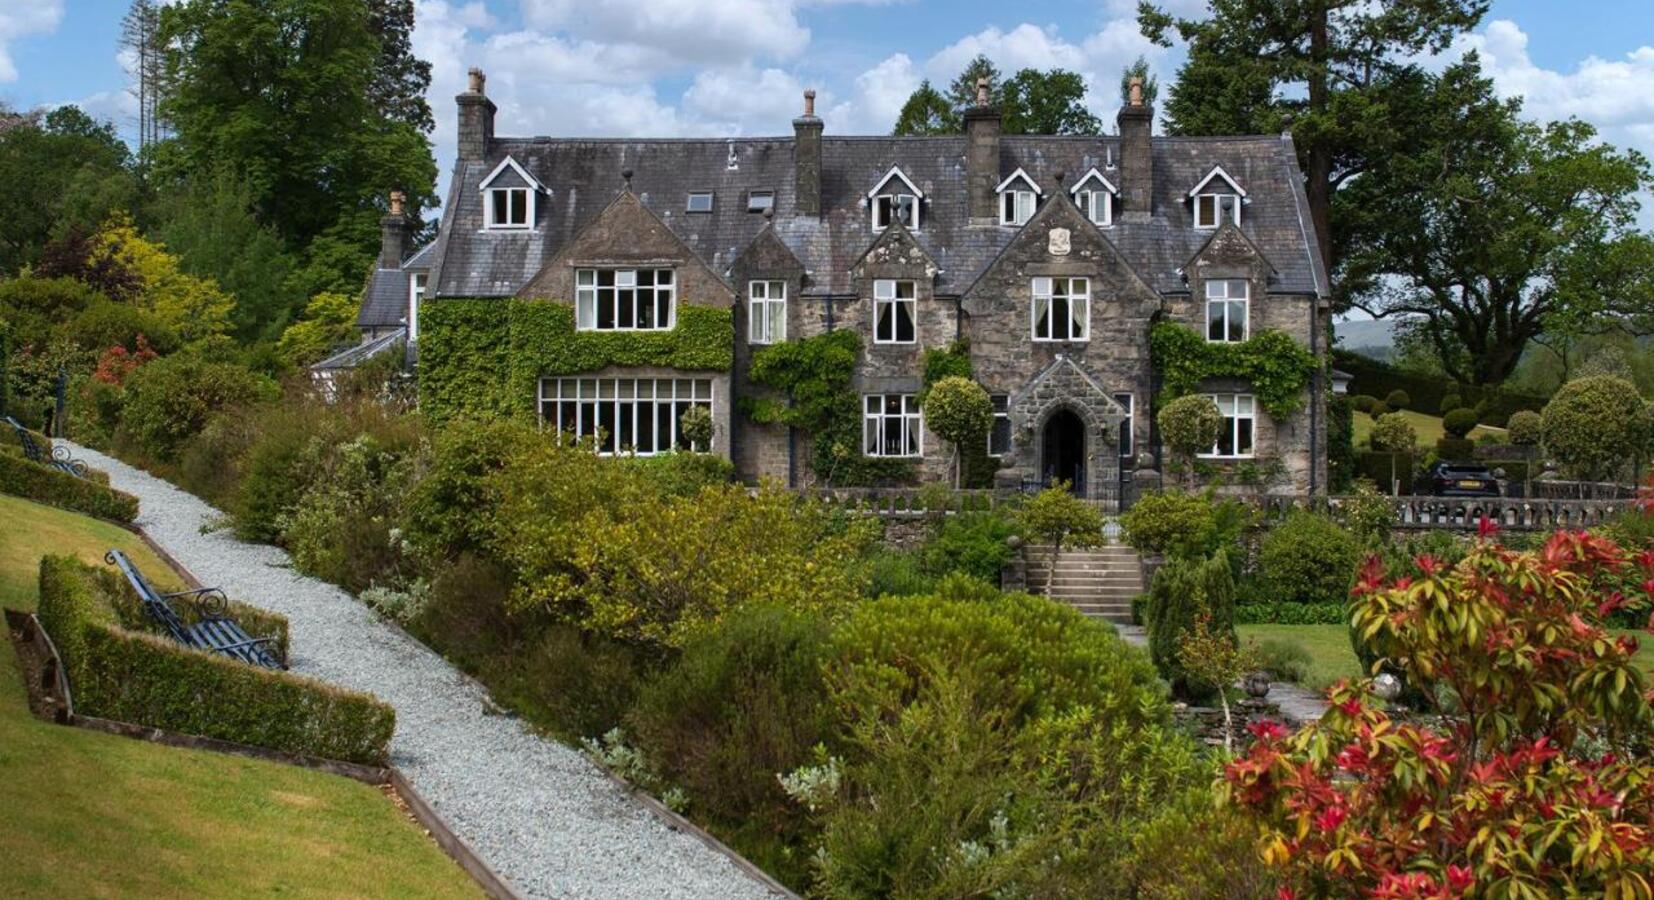
[[[1408,152],[1370,160],[1340,195],[1350,301],[1406,319],[1467,384],[1505,381],[1545,329],[1647,319],[1647,162],[1581,121],[1523,121],[1475,55],[1427,81]]]

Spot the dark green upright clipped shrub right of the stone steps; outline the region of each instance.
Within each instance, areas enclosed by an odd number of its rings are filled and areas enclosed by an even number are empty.
[[[1234,640],[1236,582],[1229,558],[1219,551],[1211,559],[1168,561],[1154,572],[1148,596],[1148,649],[1154,668],[1178,697],[1191,701],[1211,697],[1217,685],[1191,682],[1178,650],[1201,617],[1209,617],[1209,630]]]

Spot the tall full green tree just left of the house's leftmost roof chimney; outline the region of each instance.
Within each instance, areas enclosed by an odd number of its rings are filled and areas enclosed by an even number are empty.
[[[291,250],[324,238],[329,271],[306,288],[356,290],[380,199],[400,189],[415,212],[435,202],[428,68],[407,51],[409,26],[407,3],[392,0],[167,7],[160,112],[175,139],[157,154],[160,172],[237,172]]]

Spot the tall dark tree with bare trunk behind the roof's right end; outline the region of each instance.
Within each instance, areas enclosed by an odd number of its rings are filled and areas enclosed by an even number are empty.
[[[1207,18],[1138,5],[1143,33],[1189,60],[1171,86],[1176,134],[1274,134],[1290,124],[1322,260],[1333,268],[1331,197],[1409,134],[1388,99],[1409,55],[1446,50],[1487,0],[1212,0]]]

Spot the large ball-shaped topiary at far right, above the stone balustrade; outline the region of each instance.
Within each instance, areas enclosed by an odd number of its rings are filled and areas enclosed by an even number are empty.
[[[1571,381],[1540,417],[1545,450],[1576,478],[1619,472],[1642,440],[1642,397],[1634,384],[1614,376]]]

